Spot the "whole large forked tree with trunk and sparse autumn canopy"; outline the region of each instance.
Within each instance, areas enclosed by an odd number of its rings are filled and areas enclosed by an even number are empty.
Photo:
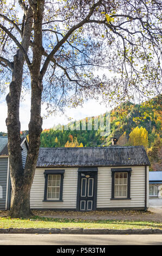
[[[48,102],[50,113],[98,95],[119,102],[137,93],[160,93],[160,10],[155,0],[0,1],[1,93],[10,83],[11,216],[31,214],[42,102]],[[101,69],[108,76],[101,77]],[[21,93],[28,89],[29,148],[23,168],[19,108]]]

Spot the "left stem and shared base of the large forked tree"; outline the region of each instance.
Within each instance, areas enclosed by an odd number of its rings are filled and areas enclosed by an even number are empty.
[[[24,20],[22,46],[26,52],[30,43],[30,33],[33,24],[33,11],[29,8]],[[12,185],[12,197],[10,205],[11,217],[26,217],[30,215],[29,190],[31,185],[24,183],[24,169],[22,166],[22,150],[20,137],[20,96],[22,88],[22,75],[24,57],[21,50],[14,56],[13,78],[9,87],[9,94],[6,97],[8,105],[8,118],[6,125],[8,129],[8,150],[10,161],[10,177]],[[26,206],[25,206],[26,205]]]

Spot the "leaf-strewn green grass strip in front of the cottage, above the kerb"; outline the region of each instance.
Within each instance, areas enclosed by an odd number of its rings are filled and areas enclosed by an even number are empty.
[[[108,228],[108,229],[145,229],[160,228],[162,223],[151,221],[121,220],[80,220],[67,218],[45,218],[33,216],[27,219],[0,217],[0,228]]]

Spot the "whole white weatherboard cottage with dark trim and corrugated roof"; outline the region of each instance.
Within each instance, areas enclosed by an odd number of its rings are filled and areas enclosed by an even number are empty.
[[[40,148],[30,207],[147,210],[149,165],[143,146]]]

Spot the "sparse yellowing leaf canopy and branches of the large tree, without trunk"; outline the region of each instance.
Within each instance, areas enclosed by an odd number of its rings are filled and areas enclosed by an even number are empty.
[[[17,47],[26,60],[23,90],[30,88],[26,78],[32,69],[33,27],[28,51],[21,41],[27,10],[39,3],[42,100],[49,113],[98,94],[117,102],[160,93],[161,2],[154,0],[1,1],[2,90],[4,75],[10,81]],[[103,75],[96,75],[101,69]]]

